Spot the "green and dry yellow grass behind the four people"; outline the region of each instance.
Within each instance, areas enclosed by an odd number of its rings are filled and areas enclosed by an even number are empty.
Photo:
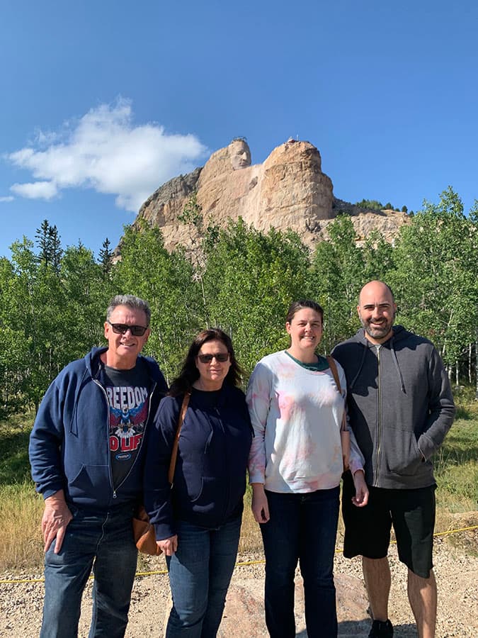
[[[455,394],[457,419],[434,459],[438,483],[436,531],[445,532],[478,524],[478,401],[474,389]],[[28,437],[33,413],[0,421],[0,570],[18,574],[41,569],[40,523],[43,500],[35,495],[28,465]],[[338,543],[342,524],[339,525]],[[450,535],[450,544],[478,554],[476,532]],[[244,500],[239,553],[254,554],[262,548],[261,532],[251,513],[251,491]],[[140,556],[138,569],[163,569],[164,559]]]

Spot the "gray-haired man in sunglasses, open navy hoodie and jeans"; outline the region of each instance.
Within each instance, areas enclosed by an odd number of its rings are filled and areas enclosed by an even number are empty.
[[[45,603],[40,637],[76,637],[81,595],[94,572],[90,637],[123,637],[135,578],[132,515],[142,491],[149,420],[166,392],[140,352],[151,311],[112,299],[108,347],[67,365],[48,388],[30,436],[30,464],[45,499]]]

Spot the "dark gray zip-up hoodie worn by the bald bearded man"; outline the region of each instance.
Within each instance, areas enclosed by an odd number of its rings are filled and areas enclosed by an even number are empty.
[[[360,328],[332,354],[346,373],[348,415],[368,485],[433,485],[431,456],[455,416],[450,381],[433,344],[397,325],[377,349]]]

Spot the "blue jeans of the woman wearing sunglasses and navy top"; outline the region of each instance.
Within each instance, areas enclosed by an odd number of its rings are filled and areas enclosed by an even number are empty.
[[[237,558],[241,516],[221,527],[178,521],[178,549],[166,556],[173,608],[166,638],[214,638]]]

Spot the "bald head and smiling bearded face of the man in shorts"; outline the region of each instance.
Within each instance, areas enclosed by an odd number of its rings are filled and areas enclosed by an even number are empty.
[[[397,312],[392,290],[383,281],[369,281],[363,286],[357,306],[365,337],[378,344],[392,337],[392,326]]]

